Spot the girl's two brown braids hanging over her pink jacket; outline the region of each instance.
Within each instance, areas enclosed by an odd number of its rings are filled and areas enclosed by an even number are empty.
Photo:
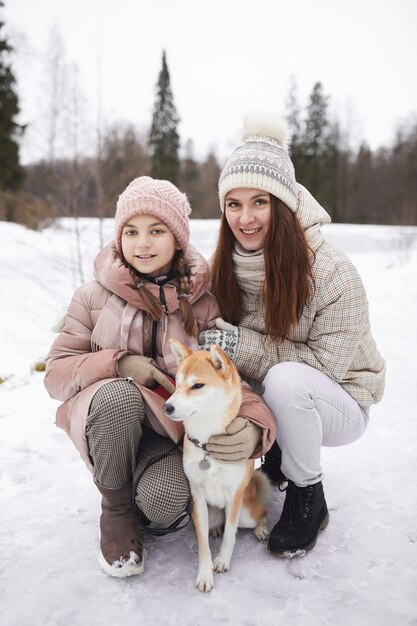
[[[197,336],[197,323],[194,317],[193,307],[189,301],[190,294],[190,282],[187,273],[187,266],[185,263],[184,253],[179,250],[173,260],[171,272],[173,276],[178,278],[178,301],[181,323],[185,332],[190,337]],[[149,291],[142,278],[139,277],[130,268],[130,273],[135,281],[136,287],[139,289],[139,293],[142,299],[142,304],[151,318],[155,321],[160,320],[166,313],[164,308],[153,293]]]

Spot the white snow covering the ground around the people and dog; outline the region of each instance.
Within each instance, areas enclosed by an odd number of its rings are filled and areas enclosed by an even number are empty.
[[[97,221],[79,223],[83,280],[99,248]],[[217,221],[193,221],[212,252]],[[112,236],[105,220],[104,240]],[[239,531],[229,572],[199,593],[192,526],[145,535],[145,572],[112,579],[97,566],[100,497],[63,431],[58,403],[34,371],[80,282],[74,225],[41,232],[0,222],[0,607],[2,626],[392,626],[417,624],[417,229],[331,225],[326,237],[357,265],[373,332],[388,364],[367,433],[322,461],[330,523],[302,558],[267,554]],[[269,525],[284,495],[274,490]],[[219,540],[212,541],[215,549]]]

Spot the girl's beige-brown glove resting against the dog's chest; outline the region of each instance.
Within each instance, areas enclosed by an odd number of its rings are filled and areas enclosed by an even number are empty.
[[[262,429],[246,417],[236,417],[226,429],[227,435],[210,437],[206,450],[218,461],[249,459],[262,438]]]

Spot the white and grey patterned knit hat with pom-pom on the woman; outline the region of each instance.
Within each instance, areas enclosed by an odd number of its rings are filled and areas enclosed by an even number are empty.
[[[220,208],[226,194],[239,187],[262,189],[297,211],[294,166],[288,154],[288,130],[280,117],[254,112],[245,116],[241,143],[219,179]]]

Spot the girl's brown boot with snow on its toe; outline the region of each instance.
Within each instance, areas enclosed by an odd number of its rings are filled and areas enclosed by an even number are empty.
[[[141,574],[145,569],[145,553],[140,526],[132,513],[132,486],[107,489],[97,485],[97,488],[103,496],[98,564],[106,574],[118,578]]]

